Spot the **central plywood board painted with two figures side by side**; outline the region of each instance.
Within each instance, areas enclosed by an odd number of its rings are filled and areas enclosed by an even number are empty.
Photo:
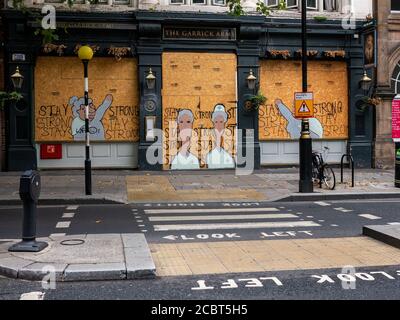
[[[164,169],[235,167],[235,72],[230,54],[163,55]]]

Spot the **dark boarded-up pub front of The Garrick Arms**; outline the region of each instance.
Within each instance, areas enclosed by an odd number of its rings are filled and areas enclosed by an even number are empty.
[[[34,18],[3,11],[6,82],[17,66],[25,76],[24,100],[7,114],[7,169],[82,167],[83,67],[77,50],[84,44],[95,52],[89,63],[94,167],[297,164],[299,3],[288,0],[287,10],[267,17],[254,12],[253,1],[243,6],[248,14],[235,17],[218,0],[106,1],[72,9],[54,3],[59,39],[51,45],[34,35],[40,28]],[[308,6],[313,147],[328,146],[330,162],[351,151],[357,166],[371,167],[374,111],[360,110],[357,101],[372,4],[315,0]],[[259,108],[249,103],[258,92],[267,98]]]

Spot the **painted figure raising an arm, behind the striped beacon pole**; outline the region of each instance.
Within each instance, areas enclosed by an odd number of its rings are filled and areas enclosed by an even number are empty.
[[[92,140],[104,140],[105,131],[103,117],[113,101],[112,95],[107,95],[103,103],[96,109],[92,99],[89,99],[89,133]],[[72,106],[71,130],[75,141],[85,139],[85,98],[71,97],[69,100]]]

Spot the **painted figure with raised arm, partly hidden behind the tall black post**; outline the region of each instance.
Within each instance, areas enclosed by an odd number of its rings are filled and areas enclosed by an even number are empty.
[[[290,109],[280,99],[275,100],[281,115],[287,120],[287,132],[291,139],[299,139],[301,136],[301,120],[296,119]],[[317,118],[310,118],[310,135],[313,139],[321,139],[324,136],[324,128]]]

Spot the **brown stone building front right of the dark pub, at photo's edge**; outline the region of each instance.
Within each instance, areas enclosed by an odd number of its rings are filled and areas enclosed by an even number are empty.
[[[394,166],[392,140],[392,100],[400,93],[400,1],[375,1],[378,31],[375,165]]]

